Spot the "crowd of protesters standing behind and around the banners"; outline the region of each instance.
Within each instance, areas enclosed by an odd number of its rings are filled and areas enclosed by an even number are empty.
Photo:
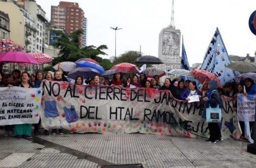
[[[24,88],[39,88],[42,80],[53,80],[53,81],[65,81],[68,82],[67,78],[64,75],[64,71],[59,68],[54,72],[54,75],[50,72],[43,74],[42,72],[37,72],[34,74],[28,74],[27,72],[20,72],[20,70],[14,70],[11,74],[0,74],[0,87],[24,87]],[[84,82],[82,76],[77,76],[74,84],[76,85],[100,85],[100,86],[119,86],[126,88],[152,88],[156,90],[170,90],[173,97],[179,100],[189,101],[190,96],[198,95],[202,102],[205,102],[205,108],[211,105],[215,107],[217,104],[219,107],[222,107],[222,101],[220,96],[225,95],[231,98],[236,98],[238,94],[255,94],[256,85],[254,81],[250,78],[241,80],[242,82],[229,82],[225,84],[222,88],[217,88],[217,82],[212,80],[210,82],[204,82],[202,87],[197,88],[195,81],[190,80],[178,80],[174,78],[166,78],[163,85],[160,85],[160,77],[155,75],[153,78],[148,78],[144,74],[137,76],[133,75],[132,77],[127,76],[124,79],[123,74],[118,72],[113,75],[112,80],[109,78],[103,78],[99,75],[94,76],[94,78],[87,79]],[[245,86],[245,89],[243,89]],[[213,92],[215,91],[215,92]],[[234,106],[236,110],[236,105]],[[205,111],[202,114],[202,118],[206,118]],[[34,135],[38,135],[40,122],[34,124]],[[242,130],[242,136],[240,140],[248,141],[244,135],[244,122],[239,121],[240,127]],[[250,127],[252,128],[253,122],[250,122]],[[208,128],[210,130],[210,138],[206,140],[210,143],[216,143],[216,141],[222,141],[220,127],[218,123],[208,123]],[[32,135],[32,124],[18,124],[18,125],[5,125],[5,134],[4,136],[16,136],[17,139],[21,140],[23,138],[31,139]],[[63,134],[63,130],[59,129],[58,132]],[[44,130],[45,135],[49,135],[48,130]],[[52,129],[52,135],[57,133],[56,129]],[[70,132],[73,133],[73,132]],[[253,136],[252,136],[253,137]]]

